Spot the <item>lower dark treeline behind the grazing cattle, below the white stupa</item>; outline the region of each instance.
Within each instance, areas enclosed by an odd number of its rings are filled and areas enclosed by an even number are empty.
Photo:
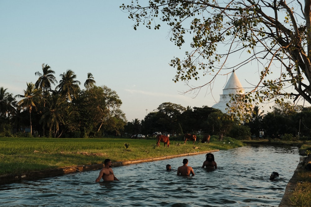
[[[232,120],[229,115],[208,106],[187,107],[173,103],[161,104],[156,112],[149,113],[144,120],[132,120],[125,126],[131,134],[152,135],[154,132],[170,134],[200,133],[235,139],[310,139],[311,108],[293,106],[282,102],[264,114],[255,106],[248,123]]]

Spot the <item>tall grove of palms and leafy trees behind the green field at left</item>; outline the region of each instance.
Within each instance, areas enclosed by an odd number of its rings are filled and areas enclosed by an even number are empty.
[[[7,88],[0,88],[0,136],[101,137],[106,132],[121,133],[127,120],[115,91],[96,86],[91,73],[85,89],[80,88],[72,70],[60,74],[59,83],[54,74],[49,65],[42,64],[42,72],[35,72],[38,80],[27,83],[23,94],[13,96]],[[56,86],[54,90],[52,86]]]

